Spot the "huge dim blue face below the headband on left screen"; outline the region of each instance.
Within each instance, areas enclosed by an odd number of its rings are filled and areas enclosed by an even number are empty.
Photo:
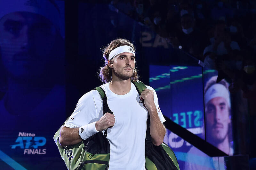
[[[42,75],[54,58],[55,41],[55,27],[38,14],[13,12],[0,19],[0,59],[14,78]]]

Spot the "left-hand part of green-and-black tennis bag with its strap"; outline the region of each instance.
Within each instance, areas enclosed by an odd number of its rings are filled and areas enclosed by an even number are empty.
[[[104,90],[101,87],[95,89],[98,90],[103,100],[103,114],[107,112],[113,114],[108,107],[108,99]],[[59,143],[60,129],[55,133],[53,139],[68,170],[108,170],[110,155],[110,145],[106,138],[108,129],[105,130],[104,135],[100,131],[78,144],[67,147],[62,147]]]

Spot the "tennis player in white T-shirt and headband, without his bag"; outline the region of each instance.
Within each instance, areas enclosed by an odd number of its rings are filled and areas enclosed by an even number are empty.
[[[74,113],[60,131],[61,146],[74,145],[108,128],[110,143],[109,170],[145,170],[145,136],[147,118],[155,145],[163,143],[164,117],[156,92],[147,86],[139,96],[131,81],[138,80],[135,49],[131,42],[116,39],[104,49],[104,67],[100,68],[101,85],[114,115],[102,114],[100,94],[92,90],[78,101]],[[144,101],[144,105],[143,102]],[[145,107],[144,107],[145,106]],[[84,129],[84,130],[81,130]]]

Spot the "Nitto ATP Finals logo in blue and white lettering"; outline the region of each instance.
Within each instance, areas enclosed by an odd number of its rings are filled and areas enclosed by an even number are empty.
[[[24,155],[46,154],[46,149],[42,148],[42,146],[46,144],[45,137],[36,137],[36,134],[34,133],[19,132],[15,142],[18,144],[11,145],[12,149],[20,147],[20,149],[24,149]]]

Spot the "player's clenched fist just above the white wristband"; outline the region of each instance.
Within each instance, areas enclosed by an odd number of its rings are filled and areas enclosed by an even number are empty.
[[[97,131],[102,131],[107,129],[108,127],[113,127],[116,122],[115,116],[111,113],[105,113],[100,120],[98,120],[95,124]]]

